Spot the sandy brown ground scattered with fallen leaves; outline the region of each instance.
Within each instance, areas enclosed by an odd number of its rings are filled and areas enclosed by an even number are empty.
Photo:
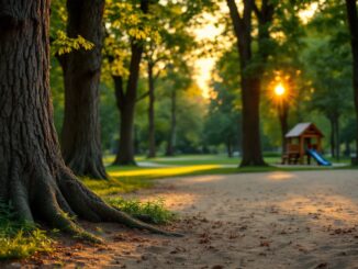
[[[68,243],[23,266],[358,268],[357,170],[166,179],[131,197],[165,199],[181,215],[165,228],[181,231],[184,237],[101,224],[98,233],[107,245]]]

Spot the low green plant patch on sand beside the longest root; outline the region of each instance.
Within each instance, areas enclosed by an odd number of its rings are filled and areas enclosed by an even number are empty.
[[[122,198],[110,198],[108,202],[119,210],[154,224],[167,224],[174,221],[177,215],[165,209],[164,200],[141,202],[138,200],[124,200]]]

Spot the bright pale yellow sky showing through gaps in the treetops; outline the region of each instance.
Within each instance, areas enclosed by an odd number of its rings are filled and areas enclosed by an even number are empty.
[[[312,3],[306,10],[300,11],[300,18],[302,22],[307,23],[307,21],[314,15],[316,9],[317,3]],[[221,12],[228,12],[226,5],[222,5]],[[223,27],[215,26],[217,16],[205,13],[203,14],[203,19],[206,21],[206,23],[201,27],[194,29],[198,42],[204,40],[214,40],[216,36],[222,34]],[[195,60],[195,80],[198,86],[201,88],[202,96],[204,98],[210,97],[210,79],[211,72],[215,65],[215,60],[216,57],[201,57]]]

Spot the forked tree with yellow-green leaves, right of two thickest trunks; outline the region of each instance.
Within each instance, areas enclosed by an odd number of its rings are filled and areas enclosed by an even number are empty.
[[[114,165],[135,165],[134,115],[137,102],[137,83],[144,52],[144,42],[150,35],[149,1],[113,3],[108,20],[108,57],[120,111],[120,141]],[[126,47],[130,42],[130,48]],[[128,53],[130,51],[130,53]],[[125,79],[126,78],[126,79]],[[126,80],[126,81],[125,81]]]

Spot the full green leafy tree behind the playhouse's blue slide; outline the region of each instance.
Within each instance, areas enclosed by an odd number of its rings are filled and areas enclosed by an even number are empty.
[[[351,54],[343,1],[326,1],[306,26],[302,53],[304,77],[311,81],[309,108],[331,125],[331,153],[339,158],[339,130],[351,109]],[[339,105],[337,105],[339,103]]]

